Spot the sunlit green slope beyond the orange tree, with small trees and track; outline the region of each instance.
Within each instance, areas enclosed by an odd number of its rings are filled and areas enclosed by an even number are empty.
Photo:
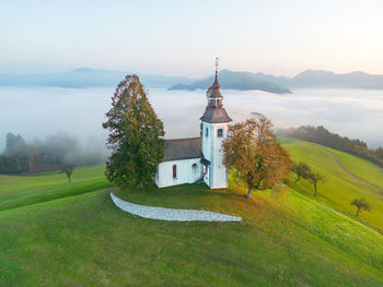
[[[367,223],[383,232],[383,193],[381,191],[378,191],[347,174],[336,164],[333,155],[326,152],[323,147],[298,140],[282,139],[280,141],[294,160],[305,162],[313,168],[313,170],[325,176],[325,182],[318,184],[317,198],[313,195],[313,187],[304,180],[301,180],[298,183],[292,183],[292,188],[295,191],[299,191],[309,198],[315,198],[326,205],[341,211],[352,217],[356,214],[356,207],[351,206],[350,202],[356,198],[364,198],[371,204],[372,212],[362,213],[360,217],[356,219]],[[364,166],[370,170],[373,170],[371,171],[371,175],[378,175],[381,172],[379,167],[375,167],[369,162],[346,153],[336,152],[334,150],[330,151],[335,152],[341,160],[348,159],[345,160],[344,165],[357,176],[363,177],[365,175],[362,170]],[[350,160],[352,158],[356,159],[356,164]],[[361,169],[355,168],[358,165],[361,166]],[[376,186],[383,186],[383,177],[370,176],[369,179],[373,179],[373,183]]]

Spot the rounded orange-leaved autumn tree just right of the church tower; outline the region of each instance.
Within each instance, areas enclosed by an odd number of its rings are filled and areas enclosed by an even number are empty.
[[[253,190],[271,189],[290,172],[290,157],[277,143],[271,127],[264,116],[235,123],[222,144],[223,163],[232,169],[234,180],[246,183],[248,199]]]

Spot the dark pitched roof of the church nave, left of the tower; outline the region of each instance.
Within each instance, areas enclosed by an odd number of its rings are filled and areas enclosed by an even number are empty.
[[[202,156],[201,143],[201,137],[165,140],[163,162],[200,158]]]

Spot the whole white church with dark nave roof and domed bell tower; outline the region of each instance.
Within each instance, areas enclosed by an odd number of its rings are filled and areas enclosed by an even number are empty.
[[[232,119],[223,108],[218,71],[207,91],[208,106],[202,121],[201,137],[165,140],[164,158],[158,166],[159,188],[194,183],[204,180],[210,189],[228,188],[228,170],[223,165],[222,141],[228,136]]]

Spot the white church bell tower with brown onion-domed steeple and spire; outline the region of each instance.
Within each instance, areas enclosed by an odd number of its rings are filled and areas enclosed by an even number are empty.
[[[223,108],[223,97],[218,82],[218,58],[216,58],[216,77],[206,95],[208,105],[202,121],[202,164],[204,181],[210,189],[228,188],[228,170],[223,165],[222,142],[228,136],[229,123],[232,119]]]

